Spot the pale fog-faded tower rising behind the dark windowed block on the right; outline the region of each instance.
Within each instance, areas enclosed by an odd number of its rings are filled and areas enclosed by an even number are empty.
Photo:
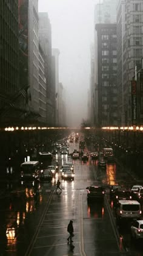
[[[116,1],[117,0],[103,0],[102,3],[95,5],[95,14],[94,14],[94,24],[114,24],[116,23]],[[98,40],[97,40],[97,31],[95,29],[95,37],[94,37],[94,44],[95,44],[95,84],[91,90],[95,92],[94,95],[94,125],[99,125],[98,120]],[[91,97],[93,95],[91,94]],[[91,99],[93,100],[93,99]]]

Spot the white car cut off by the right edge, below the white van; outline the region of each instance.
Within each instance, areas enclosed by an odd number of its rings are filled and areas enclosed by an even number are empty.
[[[143,238],[143,220],[136,220],[131,224],[131,236],[138,240]]]

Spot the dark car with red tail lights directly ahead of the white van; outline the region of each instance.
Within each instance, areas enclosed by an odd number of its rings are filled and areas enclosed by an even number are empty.
[[[118,204],[119,200],[131,200],[131,191],[130,190],[116,190],[113,196],[113,202],[115,205]]]

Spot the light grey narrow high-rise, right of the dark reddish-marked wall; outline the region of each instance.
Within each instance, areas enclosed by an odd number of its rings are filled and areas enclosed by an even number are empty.
[[[28,0],[28,105],[34,115],[39,113],[39,34],[38,0]]]

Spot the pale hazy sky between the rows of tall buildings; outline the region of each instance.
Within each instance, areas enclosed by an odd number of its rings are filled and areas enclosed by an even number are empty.
[[[59,82],[68,91],[71,126],[87,119],[90,84],[90,44],[93,42],[94,9],[99,0],[39,0],[39,12],[48,12],[52,48],[58,48]],[[71,111],[72,110],[72,111]]]

